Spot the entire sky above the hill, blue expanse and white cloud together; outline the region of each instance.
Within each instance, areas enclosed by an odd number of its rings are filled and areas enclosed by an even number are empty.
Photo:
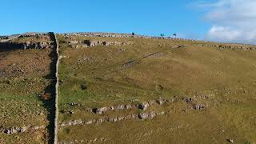
[[[256,0],[8,0],[0,35],[115,32],[255,43]]]

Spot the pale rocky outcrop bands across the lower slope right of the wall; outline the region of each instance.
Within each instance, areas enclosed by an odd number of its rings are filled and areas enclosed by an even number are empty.
[[[203,96],[197,96],[194,98],[181,98],[181,101],[178,100],[178,98],[170,98],[170,99],[164,99],[164,98],[157,98],[155,100],[151,100],[149,102],[142,102],[138,104],[123,104],[123,105],[116,105],[116,106],[104,106],[100,108],[87,108],[85,111],[102,115],[105,113],[111,113],[112,111],[118,111],[118,110],[142,110],[138,114],[127,114],[127,115],[118,115],[115,117],[108,117],[104,116],[103,118],[96,118],[96,119],[90,119],[90,120],[82,120],[82,119],[76,119],[76,120],[70,120],[67,122],[60,122],[59,126],[60,128],[66,127],[66,126],[76,126],[76,125],[92,125],[92,124],[100,124],[102,122],[119,122],[119,121],[126,121],[126,120],[146,120],[146,119],[152,119],[158,115],[164,115],[168,112],[166,111],[160,111],[156,112],[154,110],[150,110],[150,106],[168,106],[171,103],[175,102],[185,102],[188,104],[190,109],[192,110],[206,110],[206,108],[209,108],[209,104],[207,103],[208,98],[213,98],[213,94],[209,95],[203,95]],[[78,103],[70,103],[70,106],[81,106]],[[65,114],[74,114],[73,110],[62,110],[62,113]]]

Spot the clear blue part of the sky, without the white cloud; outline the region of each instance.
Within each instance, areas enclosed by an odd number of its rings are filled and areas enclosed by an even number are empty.
[[[8,0],[2,1],[0,34],[27,31],[101,31],[201,37],[209,26],[191,1]]]

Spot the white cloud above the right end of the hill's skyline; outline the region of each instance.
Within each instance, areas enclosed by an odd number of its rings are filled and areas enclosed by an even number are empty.
[[[207,40],[256,43],[256,0],[217,0],[197,2],[212,23]]]

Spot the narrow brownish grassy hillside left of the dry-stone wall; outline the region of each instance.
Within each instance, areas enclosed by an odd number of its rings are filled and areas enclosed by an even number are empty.
[[[43,40],[50,42],[45,36]],[[42,42],[36,37],[14,39]],[[53,49],[0,47],[0,143],[46,143],[50,135]],[[54,104],[54,103],[53,103]]]

